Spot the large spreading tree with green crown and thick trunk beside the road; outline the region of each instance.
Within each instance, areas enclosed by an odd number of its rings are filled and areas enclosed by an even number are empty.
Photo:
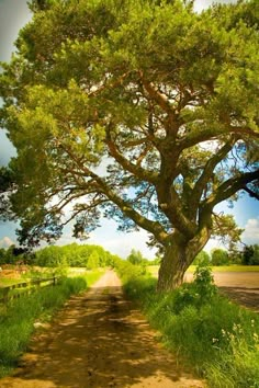
[[[234,227],[215,206],[258,197],[258,1],[201,14],[180,0],[31,9],[0,79],[21,242],[113,217],[162,248],[158,289],[179,286]]]

